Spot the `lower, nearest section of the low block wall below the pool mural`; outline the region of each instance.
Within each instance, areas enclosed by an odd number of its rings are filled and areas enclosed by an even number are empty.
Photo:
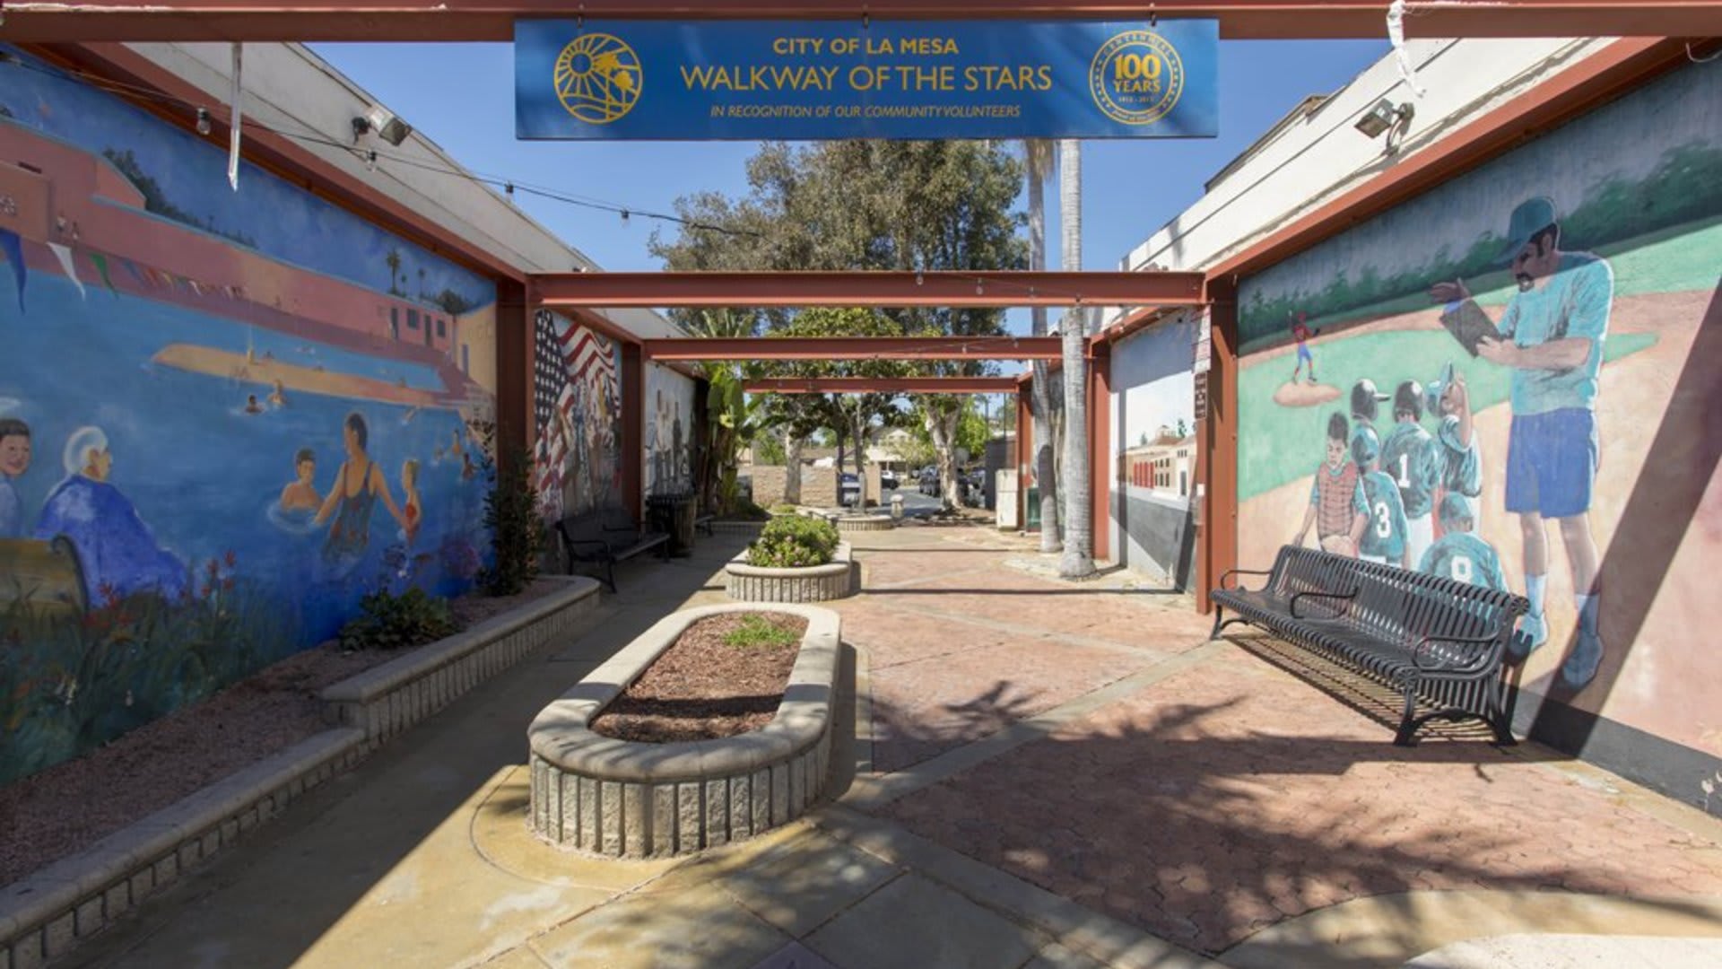
[[[362,731],[324,731],[5,886],[0,966],[24,969],[64,957],[365,753]]]

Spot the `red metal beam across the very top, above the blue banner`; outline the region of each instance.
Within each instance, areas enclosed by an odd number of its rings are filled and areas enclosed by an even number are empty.
[[[1216,17],[1221,36],[1381,38],[1388,0],[587,0],[589,19],[1100,19]],[[513,40],[517,17],[570,17],[567,0],[7,0],[0,40],[334,41]],[[1717,36],[1712,0],[1410,3],[1407,36]]]

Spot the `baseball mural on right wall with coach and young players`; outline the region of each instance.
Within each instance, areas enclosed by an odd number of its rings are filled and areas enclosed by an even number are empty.
[[[1722,74],[1688,67],[1245,279],[1238,564],[1508,588],[1522,722],[1722,755],[1719,269]]]

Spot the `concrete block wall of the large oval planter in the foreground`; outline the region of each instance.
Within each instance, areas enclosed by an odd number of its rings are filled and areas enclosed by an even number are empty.
[[[722,740],[637,743],[592,719],[691,624],[725,612],[808,619],[777,717]],[[527,729],[532,831],[610,857],[685,855],[794,821],[825,785],[832,750],[839,617],[815,605],[708,605],[661,619],[544,707]]]

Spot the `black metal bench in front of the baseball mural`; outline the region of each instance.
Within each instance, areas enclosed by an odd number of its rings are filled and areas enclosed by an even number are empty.
[[[1228,588],[1236,574],[1267,583],[1257,591]],[[1400,747],[1433,719],[1469,717],[1514,743],[1517,678],[1505,657],[1514,622],[1531,607],[1524,597],[1286,545],[1271,571],[1221,576],[1212,598],[1214,636],[1248,622],[1403,693],[1393,738]],[[1236,616],[1223,619],[1223,609]],[[1417,716],[1417,700],[1433,712]]]

